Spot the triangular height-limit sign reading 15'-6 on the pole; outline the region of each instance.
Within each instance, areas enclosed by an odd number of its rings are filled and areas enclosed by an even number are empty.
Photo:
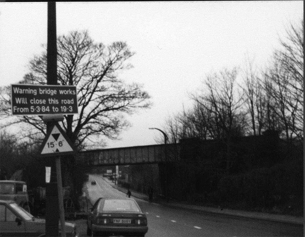
[[[66,133],[56,122],[45,136],[41,145],[41,156],[56,156],[72,154],[73,144],[66,136]]]

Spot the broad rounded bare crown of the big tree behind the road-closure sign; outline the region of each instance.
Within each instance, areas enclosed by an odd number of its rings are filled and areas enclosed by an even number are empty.
[[[150,107],[149,95],[142,91],[142,85],[126,85],[118,77],[120,71],[131,67],[127,60],[134,55],[125,42],[105,46],[93,42],[87,31],[72,31],[59,36],[57,44],[58,84],[77,86],[80,113],[65,115],[62,123],[77,147],[81,148],[85,141],[103,145],[101,137],[116,139],[129,126],[124,114]],[[20,83],[46,84],[46,65],[45,51],[30,60],[30,73]],[[1,96],[3,115],[8,117],[10,98],[7,94]],[[45,124],[39,117],[19,116],[5,126],[16,123],[30,125],[23,136],[36,139],[39,133],[45,134]]]

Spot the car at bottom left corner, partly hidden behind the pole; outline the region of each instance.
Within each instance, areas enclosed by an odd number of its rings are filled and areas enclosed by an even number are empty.
[[[0,236],[45,236],[45,219],[33,217],[14,201],[0,201],[0,219]],[[65,230],[66,236],[76,236],[75,224],[66,222]]]

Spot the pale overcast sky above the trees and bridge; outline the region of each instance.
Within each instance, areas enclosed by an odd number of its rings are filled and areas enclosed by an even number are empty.
[[[303,1],[57,2],[57,35],[88,30],[95,42],[126,41],[138,82],[153,107],[127,116],[132,127],[107,148],[156,144],[168,115],[190,105],[205,75],[242,66],[246,55],[267,64],[285,26],[303,18]],[[47,2],[0,3],[0,86],[15,84],[47,43]]]

